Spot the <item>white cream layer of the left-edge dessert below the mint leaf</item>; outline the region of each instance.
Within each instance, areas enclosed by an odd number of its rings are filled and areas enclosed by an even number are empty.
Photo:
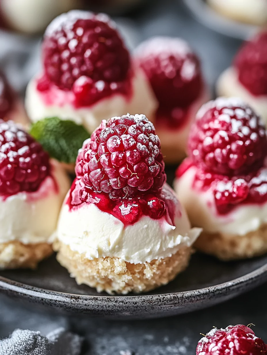
[[[23,244],[52,242],[69,180],[59,164],[35,192],[19,192],[0,198],[0,243],[17,240]]]

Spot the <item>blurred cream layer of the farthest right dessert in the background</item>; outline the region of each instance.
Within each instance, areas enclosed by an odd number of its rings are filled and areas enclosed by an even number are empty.
[[[266,1],[267,4],[267,1]],[[267,95],[252,95],[238,80],[238,73],[230,67],[224,71],[217,82],[218,96],[240,97],[261,116],[262,120],[267,124]]]

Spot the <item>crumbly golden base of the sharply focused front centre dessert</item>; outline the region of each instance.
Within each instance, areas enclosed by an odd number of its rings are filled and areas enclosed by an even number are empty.
[[[53,247],[58,251],[57,260],[77,284],[86,284],[109,294],[140,293],[166,285],[188,266],[192,252],[191,247],[183,247],[171,257],[131,264],[112,257],[89,260],[60,241],[54,242]]]

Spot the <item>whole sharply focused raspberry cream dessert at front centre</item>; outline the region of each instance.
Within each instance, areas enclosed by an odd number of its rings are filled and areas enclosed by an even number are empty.
[[[78,153],[54,243],[78,284],[139,293],[187,267],[200,229],[191,229],[165,182],[160,141],[145,115],[102,121]]]

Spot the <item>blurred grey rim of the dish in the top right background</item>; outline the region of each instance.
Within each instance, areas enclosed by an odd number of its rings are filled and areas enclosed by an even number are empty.
[[[184,0],[185,5],[191,10],[194,17],[219,33],[238,39],[247,39],[258,31],[258,27],[231,20],[211,9],[205,0]]]

